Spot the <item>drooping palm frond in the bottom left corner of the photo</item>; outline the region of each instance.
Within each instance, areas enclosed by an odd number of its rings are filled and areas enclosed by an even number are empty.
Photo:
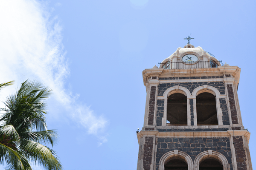
[[[0,163],[7,162],[6,170],[32,170],[28,159],[20,151],[0,143]]]

